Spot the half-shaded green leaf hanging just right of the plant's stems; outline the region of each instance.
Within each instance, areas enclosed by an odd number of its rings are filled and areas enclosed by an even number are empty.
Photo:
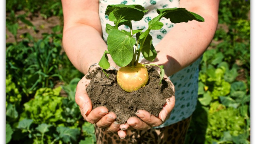
[[[141,53],[144,56],[144,58],[149,61],[154,61],[155,58],[157,57],[157,51],[155,50],[152,44],[152,36],[150,34],[148,34],[142,46]]]

